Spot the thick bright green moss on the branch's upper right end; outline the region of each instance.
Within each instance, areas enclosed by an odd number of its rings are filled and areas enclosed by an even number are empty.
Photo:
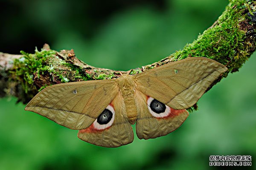
[[[248,44],[243,43],[245,31],[239,28],[239,23],[244,21],[242,13],[248,9],[247,5],[246,0],[233,0],[219,17],[218,23],[204,31],[197,40],[186,45],[182,51],[173,54],[175,59],[200,56],[214,59],[224,65],[230,59],[235,59],[236,65],[233,67],[241,67],[241,64],[247,59],[248,53],[244,49]]]

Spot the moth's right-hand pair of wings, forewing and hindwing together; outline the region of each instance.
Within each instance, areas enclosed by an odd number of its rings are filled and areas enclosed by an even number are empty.
[[[189,116],[186,108],[226,70],[212,59],[193,57],[135,75],[137,136],[156,138],[180,127]]]

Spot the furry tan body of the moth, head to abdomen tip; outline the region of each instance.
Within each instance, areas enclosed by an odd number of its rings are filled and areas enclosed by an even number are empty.
[[[124,74],[117,80],[120,93],[124,98],[127,117],[129,122],[133,125],[137,120],[137,108],[134,100],[134,77],[132,75]]]

